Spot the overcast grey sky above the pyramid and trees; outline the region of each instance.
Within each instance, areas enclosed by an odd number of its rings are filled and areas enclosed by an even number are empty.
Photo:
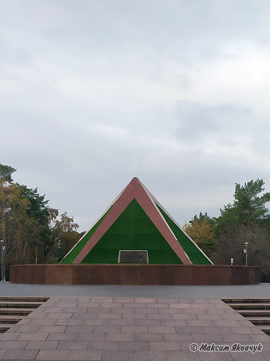
[[[175,220],[270,191],[269,0],[1,0],[0,164],[87,230],[136,176]]]

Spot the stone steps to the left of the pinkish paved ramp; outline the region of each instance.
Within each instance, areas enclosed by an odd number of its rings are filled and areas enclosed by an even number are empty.
[[[0,297],[0,333],[21,321],[49,297]]]

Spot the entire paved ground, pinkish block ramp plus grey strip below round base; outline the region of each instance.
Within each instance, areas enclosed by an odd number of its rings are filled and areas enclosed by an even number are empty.
[[[64,286],[0,283],[0,296],[49,296],[0,334],[0,360],[270,361],[270,337],[220,300],[270,285]],[[225,351],[191,351],[201,345]],[[235,351],[231,350],[232,345]],[[260,345],[252,353],[241,347]],[[238,347],[238,349],[237,349]],[[252,349],[253,350],[253,349]]]

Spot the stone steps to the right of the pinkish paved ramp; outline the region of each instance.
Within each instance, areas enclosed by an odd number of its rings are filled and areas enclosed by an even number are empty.
[[[222,298],[222,301],[270,336],[270,298]]]

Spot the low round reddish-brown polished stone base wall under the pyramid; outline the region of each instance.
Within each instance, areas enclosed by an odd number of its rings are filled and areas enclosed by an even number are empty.
[[[53,285],[254,285],[260,268],[182,264],[17,264],[10,282]]]

